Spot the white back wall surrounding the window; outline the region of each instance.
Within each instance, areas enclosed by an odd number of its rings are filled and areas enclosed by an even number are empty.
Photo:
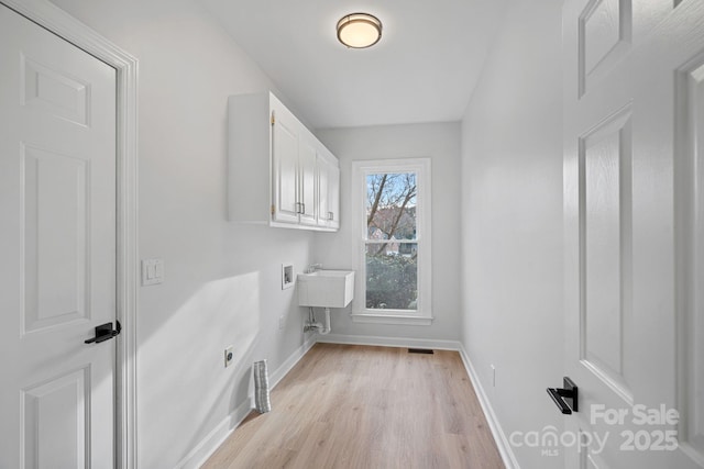
[[[341,228],[316,237],[315,258],[324,268],[354,268],[358,253],[351,220],[351,165],[358,159],[430,157],[432,171],[432,313],[430,326],[353,323],[352,306],[332,313],[333,337],[460,339],[460,124],[408,124],[316,132],[339,158]],[[360,301],[355,299],[354,301]]]

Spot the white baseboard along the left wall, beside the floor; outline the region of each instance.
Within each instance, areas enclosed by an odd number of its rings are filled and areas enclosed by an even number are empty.
[[[274,372],[270,375],[270,390],[284,378],[288,371],[316,345],[316,337],[308,338],[300,347],[284,361]],[[254,395],[249,395],[230,415],[220,422],[188,455],[176,465],[176,469],[197,469],[201,467],[210,456],[224,443],[226,439],[240,426],[242,421],[253,409]]]

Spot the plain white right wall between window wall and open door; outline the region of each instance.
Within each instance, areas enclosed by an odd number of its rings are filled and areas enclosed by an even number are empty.
[[[562,427],[560,47],[560,0],[510,2],[462,124],[463,344],[506,435]]]

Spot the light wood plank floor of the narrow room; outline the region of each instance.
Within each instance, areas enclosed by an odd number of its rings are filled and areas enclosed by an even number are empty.
[[[503,468],[457,351],[317,344],[204,468]]]

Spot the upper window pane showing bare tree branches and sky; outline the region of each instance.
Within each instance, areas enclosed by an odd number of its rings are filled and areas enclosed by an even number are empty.
[[[416,239],[415,172],[366,176],[367,239]]]

